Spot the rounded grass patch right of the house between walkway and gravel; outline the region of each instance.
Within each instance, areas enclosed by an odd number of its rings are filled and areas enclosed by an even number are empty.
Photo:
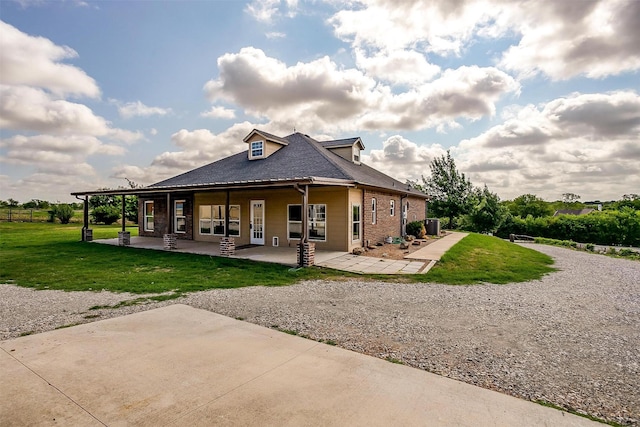
[[[469,234],[447,251],[421,281],[450,285],[525,282],[555,271],[553,259],[482,234]]]

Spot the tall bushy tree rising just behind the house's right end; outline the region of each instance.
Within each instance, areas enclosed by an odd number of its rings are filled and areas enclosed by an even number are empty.
[[[423,190],[431,196],[429,209],[438,217],[448,218],[447,227],[452,229],[453,220],[471,208],[473,185],[464,173],[458,172],[449,151],[446,156],[433,159],[429,167],[431,176],[422,177]]]

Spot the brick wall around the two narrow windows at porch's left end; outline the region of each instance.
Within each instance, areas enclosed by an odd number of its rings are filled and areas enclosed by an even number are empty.
[[[186,233],[177,233],[178,239],[193,240],[193,197],[191,195],[176,194],[171,196],[171,218],[173,218],[174,201],[184,200],[184,214],[187,224]],[[144,202],[153,201],[154,226],[153,231],[144,230]],[[167,232],[167,196],[138,197],[138,234],[148,237],[162,237]],[[173,233],[173,224],[170,224],[169,232]]]

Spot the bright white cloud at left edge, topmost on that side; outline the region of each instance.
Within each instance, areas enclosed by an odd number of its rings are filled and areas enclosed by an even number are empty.
[[[44,88],[58,96],[100,96],[96,82],[81,69],[60,61],[76,51],[33,37],[0,21],[0,83]]]

